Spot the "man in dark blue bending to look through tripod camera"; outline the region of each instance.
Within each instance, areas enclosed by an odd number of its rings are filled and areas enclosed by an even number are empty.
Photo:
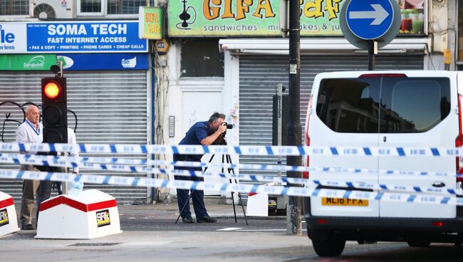
[[[225,125],[224,120],[224,114],[214,112],[214,114],[209,117],[209,121],[197,122],[192,125],[179,145],[212,145],[219,135],[227,131],[227,125]],[[174,154],[174,161],[201,162],[201,157],[202,154]],[[175,169],[202,171],[202,167],[175,167]],[[175,179],[204,181],[204,177],[175,176]],[[177,189],[177,202],[183,223],[192,224],[194,223],[194,219],[192,218],[192,214],[189,211],[189,204],[187,203],[188,193],[188,189]],[[204,192],[202,190],[192,190],[191,194],[197,223],[217,222],[217,219],[207,214],[206,206],[204,206]]]

